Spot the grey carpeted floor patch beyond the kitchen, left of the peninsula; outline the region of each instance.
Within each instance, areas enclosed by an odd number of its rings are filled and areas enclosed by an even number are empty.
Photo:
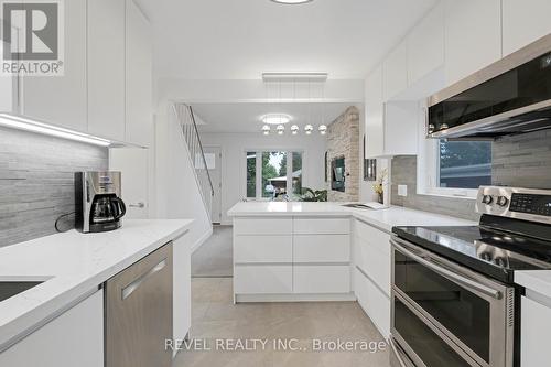
[[[214,226],[213,236],[192,255],[192,277],[231,277],[233,227]]]

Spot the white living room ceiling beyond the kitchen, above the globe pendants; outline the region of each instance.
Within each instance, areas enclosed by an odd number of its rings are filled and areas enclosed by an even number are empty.
[[[194,112],[205,122],[199,125],[202,132],[258,132],[263,126],[266,114],[285,114],[292,121],[285,126],[298,125],[301,129],[312,123],[316,128],[328,125],[337,118],[348,104],[194,104]],[[360,107],[359,107],[360,108]],[[274,130],[276,127],[272,127]]]

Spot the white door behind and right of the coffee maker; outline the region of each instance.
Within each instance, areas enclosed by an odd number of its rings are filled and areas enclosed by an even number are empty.
[[[127,205],[126,218],[149,217],[148,160],[147,149],[114,148],[109,150],[109,170],[121,172],[121,198]]]

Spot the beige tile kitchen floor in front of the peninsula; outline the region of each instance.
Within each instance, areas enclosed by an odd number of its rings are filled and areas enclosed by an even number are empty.
[[[192,280],[191,338],[201,342],[195,350],[182,350],[174,367],[300,366],[389,367],[388,346],[378,352],[314,352],[315,339],[325,342],[383,342],[382,336],[355,302],[233,304],[230,278]],[[268,339],[266,348],[252,352],[216,350],[216,339]],[[305,350],[273,347],[288,341]],[[291,341],[293,339],[293,341]],[[252,343],[252,342],[249,342]],[[199,350],[202,346],[212,348]],[[374,343],[370,345],[374,347]],[[329,346],[331,347],[331,346]]]

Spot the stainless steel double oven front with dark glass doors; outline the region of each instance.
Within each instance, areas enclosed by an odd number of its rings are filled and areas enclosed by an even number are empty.
[[[391,333],[411,360],[511,367],[514,288],[396,236],[391,244]]]

